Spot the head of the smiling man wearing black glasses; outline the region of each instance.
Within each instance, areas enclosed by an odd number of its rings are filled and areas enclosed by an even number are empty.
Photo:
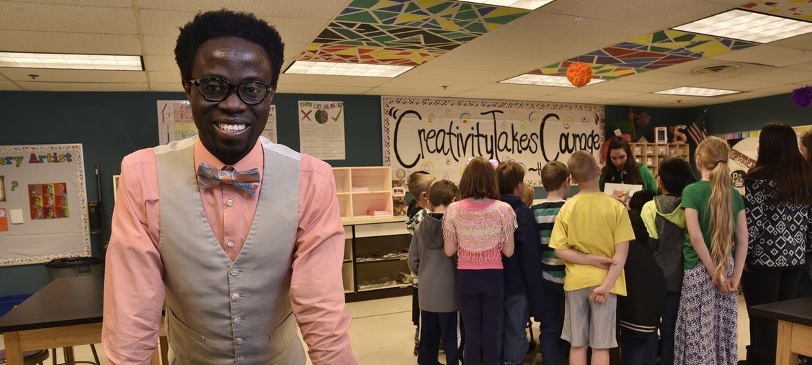
[[[224,164],[265,129],[283,63],[279,32],[247,13],[207,11],[180,28],[175,61],[201,143]]]

